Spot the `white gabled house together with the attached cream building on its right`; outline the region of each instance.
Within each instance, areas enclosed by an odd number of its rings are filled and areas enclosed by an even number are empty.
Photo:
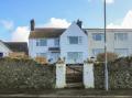
[[[119,56],[132,54],[131,29],[107,29],[107,52]],[[73,22],[67,29],[35,28],[31,21],[29,55],[46,57],[55,63],[58,57],[67,64],[82,63],[105,52],[103,29],[81,29],[81,21]]]

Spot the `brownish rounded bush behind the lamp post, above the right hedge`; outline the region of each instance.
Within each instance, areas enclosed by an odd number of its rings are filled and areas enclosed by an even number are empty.
[[[98,62],[105,62],[105,56],[106,54],[105,53],[100,53],[97,55],[97,61]],[[108,58],[108,62],[111,62],[111,61],[114,61],[118,58],[118,55],[116,53],[111,53],[111,52],[108,52],[107,53],[107,58]]]

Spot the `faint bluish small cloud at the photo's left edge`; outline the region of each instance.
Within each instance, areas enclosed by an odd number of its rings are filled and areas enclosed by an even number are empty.
[[[7,30],[13,30],[14,28],[13,21],[0,20],[0,24],[2,24]]]

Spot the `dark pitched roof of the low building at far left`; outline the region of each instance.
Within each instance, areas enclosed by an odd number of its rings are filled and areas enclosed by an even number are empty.
[[[29,54],[26,42],[3,42],[12,52],[24,52]]]

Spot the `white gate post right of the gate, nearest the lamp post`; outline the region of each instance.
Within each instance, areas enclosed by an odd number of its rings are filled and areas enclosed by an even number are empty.
[[[84,62],[84,86],[95,88],[94,63],[88,59]]]

